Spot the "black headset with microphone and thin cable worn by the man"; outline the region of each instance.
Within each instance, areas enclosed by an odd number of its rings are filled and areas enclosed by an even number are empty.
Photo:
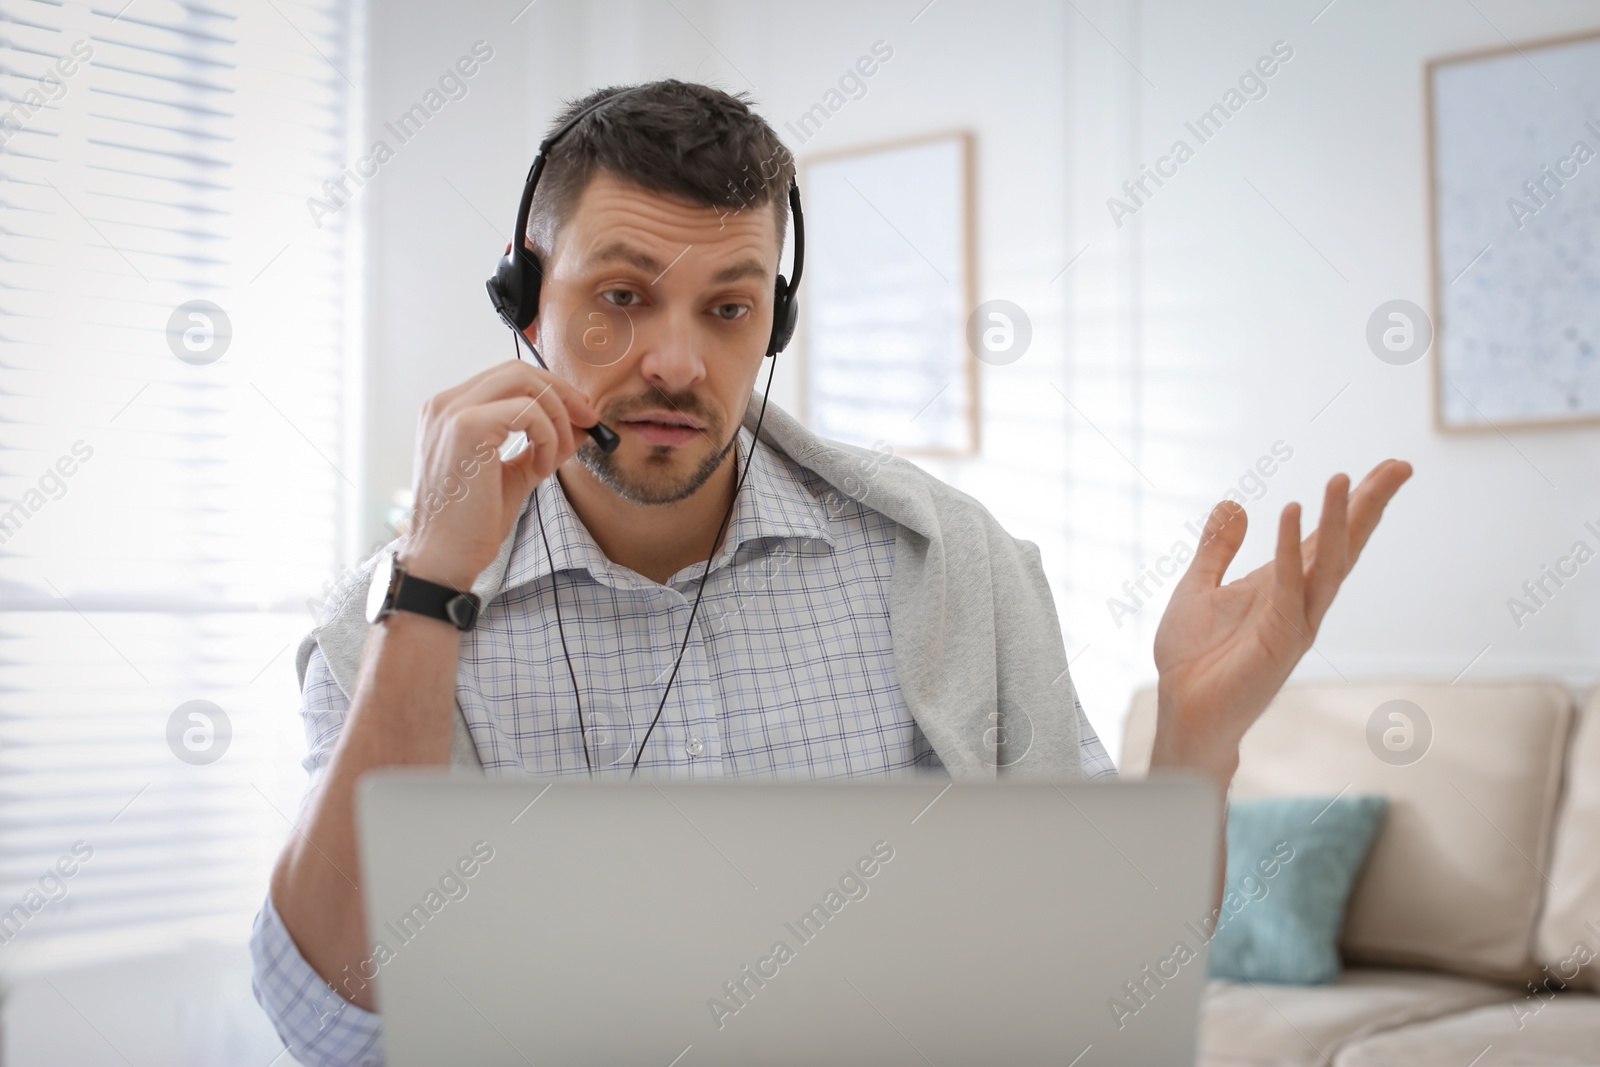
[[[533,210],[533,194],[539,187],[539,176],[544,173],[544,165],[549,160],[550,149],[573,128],[582,123],[590,115],[603,112],[611,104],[632,96],[650,86],[634,86],[629,90],[621,90],[611,96],[602,98],[576,115],[563,122],[550,136],[539,142],[539,150],[533,157],[533,166],[528,168],[528,178],[522,186],[522,203],[517,205],[517,229],[512,232],[510,246],[506,254],[494,266],[494,274],[485,282],[485,288],[490,291],[490,302],[494,306],[494,312],[501,317],[512,334],[515,336],[514,346],[517,347],[517,358],[522,358],[522,344],[528,344],[528,350],[533,352],[533,358],[539,363],[542,370],[550,370],[539,350],[528,341],[523,333],[539,314],[539,290],[544,283],[544,267],[539,264],[538,254],[528,248],[528,214]],[[773,331],[766,339],[766,357],[776,357],[789,341],[794,339],[795,325],[800,322],[800,275],[805,270],[805,216],[800,211],[800,186],[790,179],[789,182],[789,211],[794,216],[795,229],[795,248],[794,248],[794,272],[789,278],[782,274],[778,275],[773,293]],[[762,392],[762,410],[755,418],[755,438],[758,442],[762,434],[762,419],[766,418],[766,397],[773,390],[773,370],[776,370],[778,360],[768,366],[766,371],[766,389]],[[616,446],[622,443],[622,438],[611,427],[603,422],[595,422],[587,429],[589,437],[600,448],[600,451],[610,454],[616,451]],[[738,440],[738,430],[734,430],[734,438]],[[754,451],[754,450],[752,450]],[[722,523],[717,526],[717,536],[712,539],[710,552],[706,555],[706,566],[701,571],[699,590],[694,593],[694,605],[690,608],[690,621],[683,629],[683,640],[678,643],[678,656],[672,664],[672,677],[667,678],[667,686],[661,693],[661,702],[656,705],[656,715],[650,720],[650,728],[645,731],[643,741],[638,744],[638,752],[634,755],[634,765],[629,771],[629,777],[638,773],[638,761],[645,757],[645,747],[650,744],[650,734],[654,733],[656,723],[661,721],[661,712],[667,705],[667,696],[672,693],[672,683],[678,680],[678,667],[683,664],[683,653],[690,645],[690,633],[694,630],[694,616],[699,613],[699,601],[706,595],[706,577],[710,574],[710,561],[717,555],[717,545],[722,544],[723,533],[728,530],[728,522],[733,518],[733,506],[739,499],[739,491],[744,488],[746,478],[750,475],[750,467],[746,464],[744,472],[739,472],[739,453],[733,453],[733,474],[734,488],[733,499],[728,501],[728,510],[723,512]],[[550,536],[544,530],[544,515],[539,512],[539,494],[538,490],[533,493],[534,515],[539,523],[539,536],[544,541],[544,557],[550,566],[550,598],[555,605],[555,629],[562,637],[562,657],[566,659],[566,675],[573,681],[573,702],[578,707],[578,733],[582,736],[584,742],[584,766],[587,768],[590,777],[594,776],[594,761],[589,755],[589,731],[584,726],[584,704],[578,686],[578,672],[573,669],[573,657],[566,649],[566,630],[562,627],[562,598],[558,593],[555,581],[555,558],[550,552]]]

